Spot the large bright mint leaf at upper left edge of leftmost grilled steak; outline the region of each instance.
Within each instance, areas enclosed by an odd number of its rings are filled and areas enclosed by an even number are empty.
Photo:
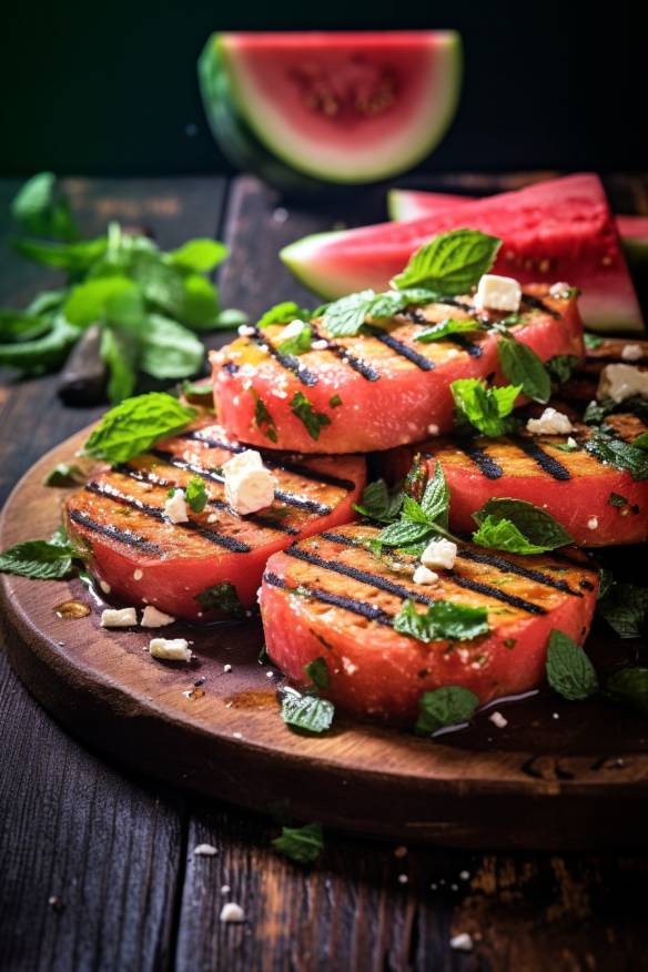
[[[105,413],[90,434],[83,453],[111,464],[126,463],[159,439],[176,435],[195,416],[195,408],[163,392],[126,398]]]

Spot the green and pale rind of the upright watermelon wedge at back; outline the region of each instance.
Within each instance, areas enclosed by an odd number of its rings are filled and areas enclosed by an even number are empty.
[[[291,154],[282,140],[275,138],[272,128],[265,128],[251,110],[249,101],[241,97],[229,64],[230,52],[223,36],[219,33],[211,36],[199,60],[201,92],[212,132],[230,161],[257,172],[280,188],[312,191],[322,182],[351,186],[397,175],[418,164],[436,148],[456,114],[462,88],[463,52],[459,34],[452,32],[452,41],[453,70],[448,71],[446,79],[445,110],[429,126],[427,139],[418,142],[413,140],[406,158],[399,155],[391,163],[374,163],[372,169],[362,171],[353,171],[347,166],[334,174],[318,164],[315,148],[308,158]]]

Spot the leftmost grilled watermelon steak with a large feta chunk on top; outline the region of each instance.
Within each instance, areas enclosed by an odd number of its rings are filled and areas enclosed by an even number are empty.
[[[202,425],[91,479],[67,504],[71,537],[90,544],[92,573],[128,605],[150,604],[178,618],[240,617],[254,606],[271,554],[355,517],[365,482],[360,456],[336,459],[264,454],[275,500],[239,516],[224,502],[222,465],[245,446]],[[169,489],[193,477],[207,504],[188,523],[164,516]]]

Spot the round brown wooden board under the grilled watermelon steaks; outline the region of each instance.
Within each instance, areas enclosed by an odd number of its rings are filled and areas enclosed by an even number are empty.
[[[58,446],[19,483],[0,522],[1,549],[52,533],[65,490],[44,487],[43,476],[85,437]],[[70,598],[91,614],[58,617]],[[150,631],[100,628],[102,604],[79,580],[4,575],[2,599],[9,656],[28,688],[75,736],[146,774],[265,812],[290,800],[296,820],[398,843],[648,843],[647,725],[604,701],[539,693],[497,706],[505,729],[490,709],[433,741],[342,718],[324,737],[302,736],[281,720],[281,675],[257,661],[256,622],[165,628],[193,642],[195,660],[173,665],[144,650]],[[593,648],[620,650],[600,639]]]

